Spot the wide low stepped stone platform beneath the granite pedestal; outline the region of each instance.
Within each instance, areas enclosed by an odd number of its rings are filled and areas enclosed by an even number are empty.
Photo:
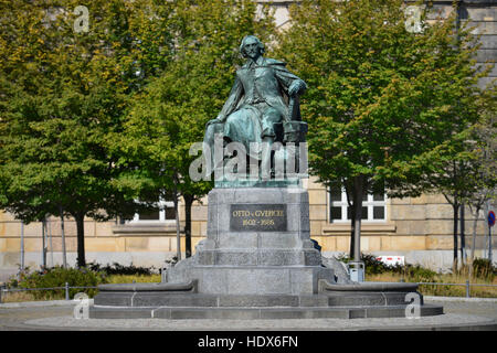
[[[161,284],[137,284],[134,288],[129,285],[104,285],[99,287],[94,306],[89,308],[89,317],[175,320],[356,319],[402,318],[415,312],[408,308],[405,296],[415,291],[416,285],[383,284],[381,291],[371,291],[368,285],[329,285],[324,292],[316,295],[209,295],[197,292],[195,282],[182,284],[182,291],[160,288]],[[329,288],[334,286],[339,286],[340,290]],[[421,296],[420,299],[417,315],[443,313],[441,306],[423,304]]]

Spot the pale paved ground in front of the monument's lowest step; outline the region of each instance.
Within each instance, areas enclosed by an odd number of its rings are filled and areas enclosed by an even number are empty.
[[[444,307],[444,315],[420,319],[314,319],[314,320],[106,320],[73,319],[74,304],[28,306],[9,308],[0,304],[0,331],[14,330],[251,330],[251,331],[307,331],[307,330],[415,330],[437,325],[490,323],[497,320],[497,301],[429,301]],[[494,325],[495,329],[495,325]]]

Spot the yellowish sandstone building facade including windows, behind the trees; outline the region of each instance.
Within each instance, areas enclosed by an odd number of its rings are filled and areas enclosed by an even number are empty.
[[[288,7],[293,1],[269,2],[275,9],[278,26],[289,25]],[[452,11],[452,1],[433,1],[434,14],[446,17]],[[491,0],[464,0],[459,4],[461,21],[477,25],[482,34],[482,47],[477,62],[483,65],[497,58],[497,3]],[[494,67],[486,85],[497,77]],[[345,194],[340,190],[327,190],[315,178],[305,180],[309,193],[310,236],[321,246],[325,256],[348,254],[350,247],[350,221]],[[364,218],[361,228],[361,250],[374,255],[404,256],[405,263],[421,264],[434,269],[452,266],[453,211],[442,195],[423,195],[415,199],[388,199],[385,195],[368,195],[364,199]],[[161,267],[165,260],[177,253],[176,222],[172,204],[163,202],[156,212],[136,215],[134,220],[98,223],[85,220],[85,249],[87,263],[119,263],[137,266]],[[495,208],[494,208],[495,210]],[[472,245],[473,216],[466,210],[466,247]],[[207,235],[207,196],[192,207],[192,248]],[[184,208],[180,207],[181,225],[184,224]],[[65,247],[67,264],[76,263],[76,224],[66,220]],[[477,221],[476,256],[486,257],[488,226],[485,213]],[[9,213],[0,213],[0,276],[15,274],[24,259],[24,266],[35,268],[43,261],[43,244],[46,249],[46,266],[62,264],[61,222],[49,218],[45,239],[42,239],[42,224],[23,225]],[[495,238],[495,237],[494,237]],[[494,242],[493,248],[497,247]],[[181,229],[181,249],[184,236]],[[494,254],[495,258],[495,254]],[[2,278],[0,278],[0,281]]]

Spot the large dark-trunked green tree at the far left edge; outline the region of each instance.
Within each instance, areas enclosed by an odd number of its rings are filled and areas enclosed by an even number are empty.
[[[127,96],[144,82],[136,67],[144,47],[152,58],[142,71],[162,61],[156,38],[137,42],[151,22],[144,20],[148,2],[92,1],[87,31],[76,25],[80,1],[0,2],[0,206],[27,223],[73,216],[78,266],[85,216],[136,208],[115,185],[120,171],[108,138],[121,130]]]

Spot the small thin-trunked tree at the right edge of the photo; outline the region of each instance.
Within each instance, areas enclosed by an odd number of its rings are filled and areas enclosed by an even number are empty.
[[[479,212],[486,202],[496,195],[496,124],[495,89],[488,89],[478,98],[483,107],[480,119],[463,132],[454,136],[452,141],[441,145],[427,157],[433,161],[434,173],[422,180],[427,191],[442,193],[453,207],[454,270],[457,269],[457,249],[461,249],[461,265],[466,265],[465,236],[461,229],[461,246],[457,240],[458,207],[465,205],[472,210],[473,245],[470,263],[475,254],[476,225]],[[461,225],[464,225],[464,212],[461,212]],[[472,271],[469,267],[469,272]]]

